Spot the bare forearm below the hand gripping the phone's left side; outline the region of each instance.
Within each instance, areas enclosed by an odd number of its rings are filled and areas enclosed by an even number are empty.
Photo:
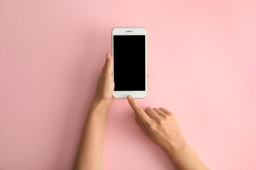
[[[102,150],[109,107],[93,101],[77,151],[74,169],[102,169]]]

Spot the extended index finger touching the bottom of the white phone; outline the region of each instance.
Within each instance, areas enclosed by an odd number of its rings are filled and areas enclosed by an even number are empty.
[[[129,105],[135,112],[135,115],[141,120],[141,122],[147,126],[151,122],[151,118],[140,108],[140,106],[135,102],[135,99],[131,97],[131,95],[127,95],[127,100],[129,102]]]

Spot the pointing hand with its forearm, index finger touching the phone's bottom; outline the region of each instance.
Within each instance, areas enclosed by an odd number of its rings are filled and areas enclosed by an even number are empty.
[[[209,169],[182,136],[173,113],[162,107],[142,110],[131,95],[127,100],[141,131],[167,153],[177,169]]]

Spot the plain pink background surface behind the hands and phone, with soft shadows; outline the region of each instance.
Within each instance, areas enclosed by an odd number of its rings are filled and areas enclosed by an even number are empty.
[[[72,169],[111,30],[148,31],[148,96],[211,169],[256,169],[256,3],[0,1],[0,169]],[[108,114],[104,169],[174,169],[131,118]],[[171,167],[171,168],[170,168]]]

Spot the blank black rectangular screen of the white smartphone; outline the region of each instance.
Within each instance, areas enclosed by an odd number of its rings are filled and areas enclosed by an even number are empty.
[[[145,35],[114,35],[114,91],[144,91]]]

